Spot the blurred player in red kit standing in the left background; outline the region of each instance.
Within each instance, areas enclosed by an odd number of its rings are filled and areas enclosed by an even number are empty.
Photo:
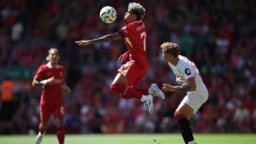
[[[40,120],[39,133],[35,138],[35,144],[41,143],[45,134],[51,115],[57,127],[57,137],[60,144],[64,143],[64,105],[62,98],[62,90],[70,94],[71,90],[64,82],[64,68],[58,65],[60,56],[56,48],[50,48],[46,58],[47,64],[41,65],[37,69],[37,73],[33,77],[33,86],[43,85],[43,93],[40,102]]]

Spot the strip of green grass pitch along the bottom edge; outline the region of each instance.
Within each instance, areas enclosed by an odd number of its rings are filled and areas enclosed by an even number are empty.
[[[256,134],[194,134],[199,144],[255,144]],[[35,135],[0,135],[0,144],[34,143]],[[58,143],[56,135],[46,134],[41,144]],[[70,144],[183,144],[180,134],[66,134]]]

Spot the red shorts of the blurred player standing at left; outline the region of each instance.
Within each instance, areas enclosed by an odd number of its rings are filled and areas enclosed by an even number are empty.
[[[51,115],[54,118],[64,118],[64,106],[63,105],[40,105],[40,118],[41,122],[48,122]]]

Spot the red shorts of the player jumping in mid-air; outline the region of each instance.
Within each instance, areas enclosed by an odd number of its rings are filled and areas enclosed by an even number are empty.
[[[139,63],[135,62],[127,62],[117,71],[126,77],[131,88],[137,88],[146,73],[148,73],[148,67],[141,67]]]

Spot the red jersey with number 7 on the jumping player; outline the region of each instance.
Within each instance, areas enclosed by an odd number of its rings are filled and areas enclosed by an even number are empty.
[[[132,22],[119,29],[125,39],[130,61],[139,63],[142,67],[148,67],[146,56],[147,35],[146,26],[142,21]]]

